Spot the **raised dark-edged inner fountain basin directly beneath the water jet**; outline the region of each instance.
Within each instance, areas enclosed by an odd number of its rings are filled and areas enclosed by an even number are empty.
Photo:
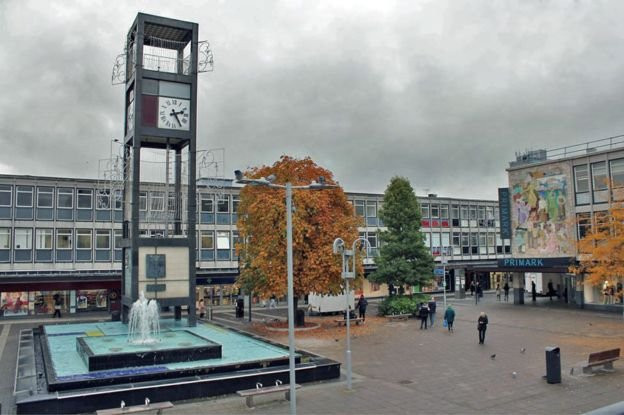
[[[157,342],[128,343],[125,335],[77,337],[89,371],[221,358],[221,345],[187,330],[163,332]]]

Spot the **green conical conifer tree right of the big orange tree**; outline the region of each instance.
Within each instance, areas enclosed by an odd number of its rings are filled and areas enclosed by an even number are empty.
[[[433,278],[433,257],[420,232],[420,205],[409,180],[392,178],[379,217],[387,230],[379,235],[377,270],[369,280],[395,286],[427,284]]]

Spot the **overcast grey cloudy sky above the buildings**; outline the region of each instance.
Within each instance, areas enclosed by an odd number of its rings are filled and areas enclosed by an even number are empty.
[[[515,152],[624,133],[622,1],[0,0],[0,173],[97,178],[137,12],[199,23],[198,148],[347,191],[496,198]]]

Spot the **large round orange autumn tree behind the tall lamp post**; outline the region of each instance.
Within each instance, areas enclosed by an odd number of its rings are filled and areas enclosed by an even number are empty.
[[[320,176],[327,184],[336,184],[332,173],[309,157],[282,156],[272,166],[244,173],[254,179],[272,174],[276,184],[305,186]],[[240,193],[238,284],[265,298],[287,292],[285,196],[284,189],[265,186],[245,186]],[[358,237],[359,220],[353,206],[340,187],[293,189],[292,201],[294,295],[336,294],[342,290],[342,265],[341,257],[332,252],[332,243],[338,237],[347,243]],[[361,264],[359,268],[361,271]]]

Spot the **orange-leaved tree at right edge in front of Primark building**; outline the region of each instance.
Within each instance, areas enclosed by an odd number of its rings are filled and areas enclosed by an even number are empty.
[[[582,225],[589,227],[589,223]],[[601,285],[624,277],[624,206],[594,213],[594,223],[578,241],[578,251],[579,263],[570,272],[586,274],[586,282]]]

